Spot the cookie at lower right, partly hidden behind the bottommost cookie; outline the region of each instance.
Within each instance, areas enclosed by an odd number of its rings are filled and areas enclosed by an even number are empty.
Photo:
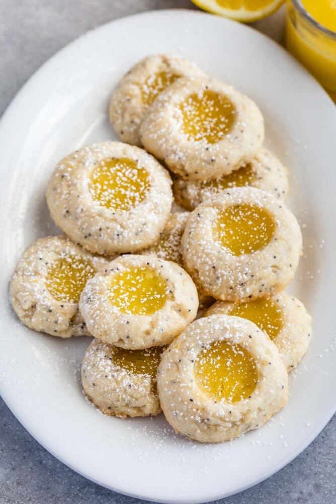
[[[301,301],[286,292],[241,304],[217,301],[205,317],[215,314],[235,315],[253,322],[277,346],[288,372],[299,364],[311,340],[310,315]]]

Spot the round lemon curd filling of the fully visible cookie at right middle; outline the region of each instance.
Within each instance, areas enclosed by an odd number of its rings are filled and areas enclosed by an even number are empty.
[[[215,240],[233,256],[251,254],[269,243],[276,223],[256,205],[231,205],[220,211],[213,226]]]

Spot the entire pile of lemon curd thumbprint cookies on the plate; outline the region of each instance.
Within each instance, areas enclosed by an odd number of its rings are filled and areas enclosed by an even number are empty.
[[[11,300],[52,336],[93,336],[83,388],[104,414],[156,415],[201,442],[261,426],[288,397],[311,321],[284,292],[302,253],[287,168],[257,105],[176,56],[133,67],[121,142],[63,158],[47,203],[64,235],[18,262]]]

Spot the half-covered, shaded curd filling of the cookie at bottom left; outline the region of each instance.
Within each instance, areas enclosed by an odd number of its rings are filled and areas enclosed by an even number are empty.
[[[149,374],[156,379],[160,356],[164,347],[151,347],[145,350],[125,350],[113,348],[113,362],[132,374]]]

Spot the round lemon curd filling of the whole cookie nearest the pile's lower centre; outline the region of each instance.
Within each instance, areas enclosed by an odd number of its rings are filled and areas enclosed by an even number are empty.
[[[169,296],[168,284],[156,271],[136,266],[113,275],[108,297],[120,311],[132,315],[152,315]]]

